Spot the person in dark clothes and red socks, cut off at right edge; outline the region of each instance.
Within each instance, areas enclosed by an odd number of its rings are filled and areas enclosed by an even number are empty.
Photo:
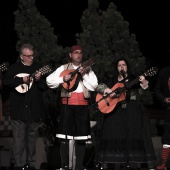
[[[162,135],[162,161],[157,170],[165,170],[170,153],[170,66],[160,70],[154,88],[156,99],[160,102],[164,110],[164,133]]]

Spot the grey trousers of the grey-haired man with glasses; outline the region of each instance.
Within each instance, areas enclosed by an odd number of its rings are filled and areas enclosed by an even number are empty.
[[[36,142],[39,123],[26,125],[22,121],[11,120],[13,133],[14,166],[23,167],[29,165],[35,167]]]

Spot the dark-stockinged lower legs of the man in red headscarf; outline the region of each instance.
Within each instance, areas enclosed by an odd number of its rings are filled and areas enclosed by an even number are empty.
[[[75,141],[75,154],[76,154],[76,170],[83,170],[83,160],[85,155],[85,141]],[[69,140],[60,140],[60,155],[63,169],[69,167]]]

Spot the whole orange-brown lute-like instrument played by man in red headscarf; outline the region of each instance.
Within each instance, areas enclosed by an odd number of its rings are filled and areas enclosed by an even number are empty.
[[[95,63],[95,60],[96,60],[95,58],[91,58],[85,61],[76,70],[70,69],[62,71],[60,77],[64,77],[65,75],[71,74],[70,81],[62,83],[63,88],[68,90],[69,92],[74,91],[77,88],[79,80],[81,78],[80,75],[78,74],[79,68],[84,67],[87,69],[88,67],[92,66]]]

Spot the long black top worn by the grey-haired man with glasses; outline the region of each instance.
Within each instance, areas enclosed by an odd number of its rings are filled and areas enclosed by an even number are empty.
[[[23,77],[17,77],[19,73],[32,75],[42,67],[34,62],[31,66],[25,66],[17,62],[10,66],[4,75],[4,86],[10,88],[10,114],[14,120],[39,121],[45,114],[43,92],[48,89],[44,76],[39,81],[33,81],[31,88],[25,93],[19,93],[15,88],[23,84]]]

